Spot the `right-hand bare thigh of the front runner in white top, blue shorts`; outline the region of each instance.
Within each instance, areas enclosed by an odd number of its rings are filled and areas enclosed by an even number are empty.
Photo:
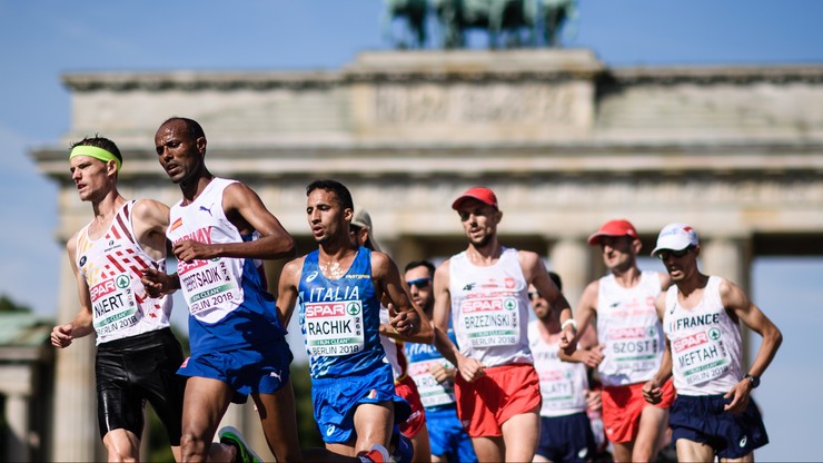
[[[278,462],[303,460],[291,382],[274,394],[252,394],[269,450]]]

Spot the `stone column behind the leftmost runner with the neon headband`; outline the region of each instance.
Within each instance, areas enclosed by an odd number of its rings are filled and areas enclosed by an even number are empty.
[[[57,323],[75,319],[80,305],[77,280],[66,258],[61,262],[60,296]],[[95,336],[75,339],[58,349],[54,371],[54,405],[52,411],[52,455],[56,462],[90,462],[99,460],[95,385]]]

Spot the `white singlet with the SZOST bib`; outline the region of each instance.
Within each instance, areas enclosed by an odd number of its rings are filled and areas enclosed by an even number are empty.
[[[597,371],[606,386],[643,383],[657,373],[665,343],[654,301],[661,293],[657,272],[643,272],[631,288],[614,275],[599,280],[597,342],[605,345]]]

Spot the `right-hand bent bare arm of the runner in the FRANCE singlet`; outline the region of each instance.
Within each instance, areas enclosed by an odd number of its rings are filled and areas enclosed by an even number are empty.
[[[783,334],[772,323],[763,312],[748,299],[748,296],[741,289],[740,286],[732,282],[724,279],[720,285],[720,295],[723,306],[737,319],[743,322],[752,331],[756,332],[763,337],[757,355],[752,362],[752,366],[748,368],[748,374],[752,376],[761,376],[765,373],[769,365],[772,363],[774,355],[777,353],[777,348],[783,342]],[[730,404],[725,406],[725,410],[732,413],[740,413],[745,410],[748,403],[748,395],[752,392],[752,383],[748,380],[742,380],[725,395],[726,397],[734,397]]]

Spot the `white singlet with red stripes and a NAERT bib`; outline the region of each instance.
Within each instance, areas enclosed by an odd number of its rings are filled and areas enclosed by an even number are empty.
[[[136,203],[122,205],[103,236],[91,239],[91,224],[77,234],[75,264],[89,285],[98,345],[169,326],[171,297],[151,298],[140,282],[141,268],[166,272],[166,259],[149,257],[137,242]]]

